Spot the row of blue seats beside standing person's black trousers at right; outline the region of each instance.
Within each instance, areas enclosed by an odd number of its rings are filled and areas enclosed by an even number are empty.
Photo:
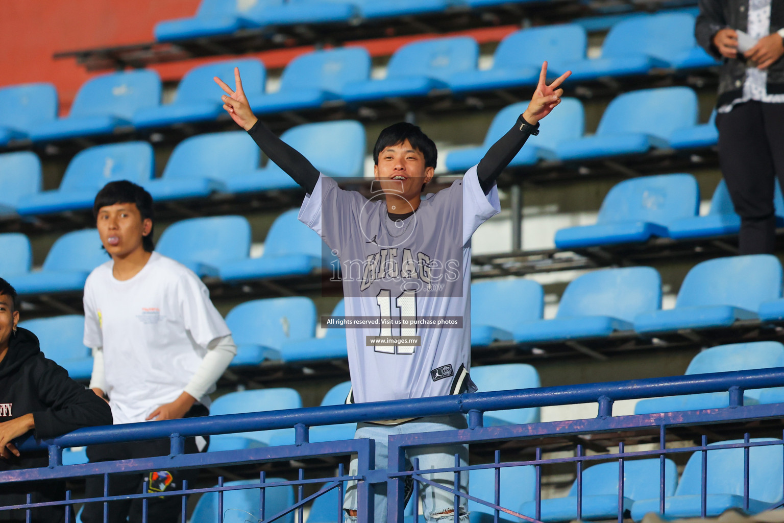
[[[776,225],[784,226],[784,198],[775,182]],[[567,227],[555,234],[558,249],[647,242],[649,239],[685,240],[737,234],[735,213],[727,184],[713,191],[710,209],[699,216],[699,185],[690,174],[664,174],[624,180],[608,192],[596,223]]]

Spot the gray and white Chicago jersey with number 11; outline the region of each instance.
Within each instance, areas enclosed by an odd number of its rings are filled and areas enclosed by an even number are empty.
[[[347,325],[354,401],[456,392],[470,368],[471,235],[498,212],[498,191],[494,186],[485,195],[475,166],[463,180],[426,194],[412,216],[397,222],[383,192],[365,198],[319,176],[299,220],[340,260],[346,317],[397,320]],[[419,336],[419,343],[376,345],[380,340],[368,336]]]

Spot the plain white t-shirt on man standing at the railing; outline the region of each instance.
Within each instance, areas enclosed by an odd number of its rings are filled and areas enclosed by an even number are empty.
[[[230,331],[204,283],[181,263],[153,252],[125,281],[114,278],[113,266],[96,267],[85,283],[84,342],[103,347],[114,423],[134,423],[176,400],[209,343]],[[198,401],[209,406],[206,394]]]

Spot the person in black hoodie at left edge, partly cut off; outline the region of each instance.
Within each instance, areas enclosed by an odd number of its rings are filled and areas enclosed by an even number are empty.
[[[111,425],[111,409],[92,390],[68,377],[68,372],[46,359],[38,338],[17,328],[16,291],[0,278],[0,470],[46,467],[47,453],[24,455],[13,441],[33,432],[49,439],[80,427]],[[65,499],[64,481],[0,485],[0,507]],[[65,520],[64,507],[31,510],[35,523]],[[70,509],[69,509],[70,510]],[[25,521],[25,510],[0,510],[0,521]],[[73,516],[71,516],[73,521]]]

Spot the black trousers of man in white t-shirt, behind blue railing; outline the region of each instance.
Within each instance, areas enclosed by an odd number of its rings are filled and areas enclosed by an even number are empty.
[[[194,405],[185,417],[206,416],[209,411],[203,405]],[[208,440],[205,440],[208,441]],[[169,439],[152,441],[129,441],[126,443],[107,443],[87,447],[90,463],[114,461],[116,459],[140,459],[153,456],[168,456]],[[196,438],[185,439],[185,453],[204,452],[207,445],[198,449]],[[140,494],[143,492],[145,478],[147,492],[179,490],[182,481],[187,480],[189,488],[195,486],[198,469],[154,470],[144,474],[111,474],[109,476],[109,496]],[[85,497],[103,496],[103,477],[92,476],[85,481]],[[147,498],[147,521],[150,523],[176,523],[182,521],[182,498],[166,496]],[[107,503],[107,523],[140,523],[142,521],[142,500],[122,499]],[[125,518],[128,518],[127,520]],[[103,523],[103,503],[85,503],[82,512],[83,523]]]

